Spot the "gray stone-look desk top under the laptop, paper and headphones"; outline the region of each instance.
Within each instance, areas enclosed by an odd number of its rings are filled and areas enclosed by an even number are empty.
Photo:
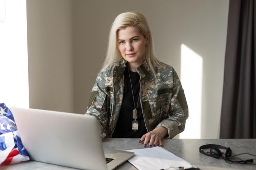
[[[139,139],[115,139],[103,140],[104,148],[115,148],[119,150],[141,149]],[[222,159],[216,159],[199,153],[199,147],[204,144],[218,144],[230,147],[233,155],[237,153],[256,154],[256,139],[164,139],[166,150],[196,165],[201,170],[256,170],[256,165],[228,164]],[[242,156],[248,159],[252,156]],[[256,157],[255,157],[256,159]],[[165,167],[163,167],[165,168]],[[57,165],[51,165],[35,161],[27,161],[19,164],[0,167],[0,170],[76,170]],[[136,170],[129,162],[125,162],[118,170]]]

